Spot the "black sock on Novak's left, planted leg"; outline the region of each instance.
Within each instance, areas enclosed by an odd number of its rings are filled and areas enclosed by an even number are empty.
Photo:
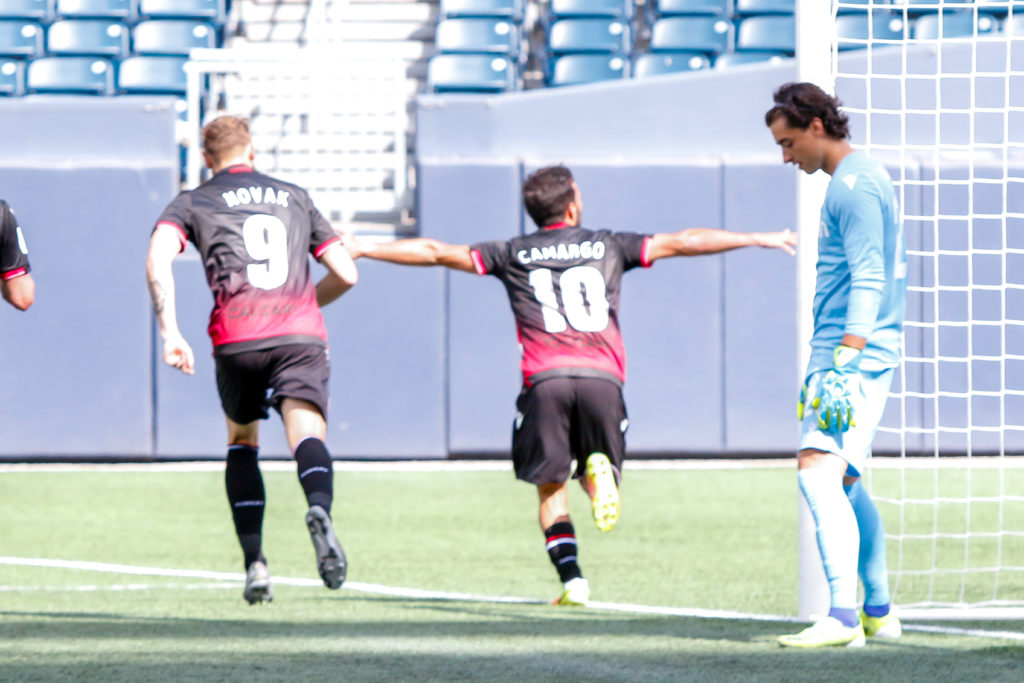
[[[259,449],[237,443],[227,446],[224,487],[231,506],[234,532],[242,545],[246,569],[256,560],[266,562],[261,552],[263,544],[263,508],[266,492],[259,471]]]

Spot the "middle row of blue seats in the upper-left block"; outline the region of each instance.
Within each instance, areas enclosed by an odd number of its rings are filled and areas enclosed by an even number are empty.
[[[48,53],[118,57],[129,52],[186,55],[193,48],[216,44],[216,29],[205,22],[141,22],[129,30],[120,22],[104,19],[69,19],[55,22],[48,28],[31,20],[0,19],[2,56],[35,57]]]

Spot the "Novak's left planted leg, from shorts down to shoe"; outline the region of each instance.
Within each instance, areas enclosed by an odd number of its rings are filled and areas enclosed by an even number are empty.
[[[217,389],[227,423],[224,488],[246,566],[242,596],[250,604],[269,602],[273,595],[263,555],[266,493],[259,469],[259,420],[266,417],[265,373],[260,372],[254,353],[217,356],[215,360]]]

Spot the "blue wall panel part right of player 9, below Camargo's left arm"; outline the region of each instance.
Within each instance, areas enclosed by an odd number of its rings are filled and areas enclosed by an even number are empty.
[[[358,267],[358,284],[324,309],[328,447],[342,457],[444,457],[446,273],[368,259]]]

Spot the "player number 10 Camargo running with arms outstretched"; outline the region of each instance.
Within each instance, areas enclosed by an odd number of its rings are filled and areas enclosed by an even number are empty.
[[[618,329],[623,273],[668,256],[717,254],[739,247],[794,253],[796,236],[692,228],[672,234],[590,230],[572,174],[543,168],[522,186],[540,229],[473,246],[422,238],[390,244],[355,242],[354,256],[406,265],[442,265],[495,275],[505,285],[522,348],[523,385],[516,402],[512,462],[516,477],[537,486],[540,524],[562,582],[557,604],[585,605],[590,585],[577,561],[568,479],[580,479],[602,531],[618,520],[618,482],[628,424],[622,386],[626,352]]]

